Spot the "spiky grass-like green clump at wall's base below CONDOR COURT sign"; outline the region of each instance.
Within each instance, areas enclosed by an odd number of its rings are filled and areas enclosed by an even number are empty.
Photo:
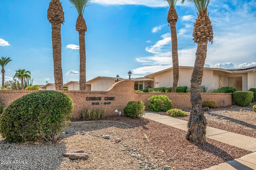
[[[97,121],[104,119],[106,109],[103,107],[84,107],[80,113],[86,121]]]

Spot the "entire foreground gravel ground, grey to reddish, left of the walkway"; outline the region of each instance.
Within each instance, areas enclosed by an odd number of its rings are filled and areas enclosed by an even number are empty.
[[[28,164],[1,164],[0,169],[42,170],[137,170],[141,168],[197,170],[239,158],[250,151],[207,139],[206,146],[185,140],[186,132],[148,119],[107,117],[120,123],[70,125],[59,142],[8,143],[0,137],[0,160],[23,160]],[[85,135],[81,132],[84,131]],[[103,135],[110,135],[104,139]],[[115,138],[122,138],[116,144]],[[85,150],[88,160],[70,160],[64,152]],[[134,157],[132,157],[134,156]]]

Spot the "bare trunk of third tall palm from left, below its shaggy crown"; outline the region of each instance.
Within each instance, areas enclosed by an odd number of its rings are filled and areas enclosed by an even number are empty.
[[[170,21],[171,38],[172,38],[172,67],[173,67],[173,85],[172,93],[176,92],[179,80],[179,59],[178,59],[178,40],[176,31],[176,21]]]

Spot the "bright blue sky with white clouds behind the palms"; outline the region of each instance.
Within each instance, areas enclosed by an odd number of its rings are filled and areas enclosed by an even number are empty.
[[[61,0],[62,69],[64,83],[79,80],[77,11]],[[54,83],[49,0],[0,2],[0,56],[11,57],[6,80],[15,70],[31,71],[34,84]],[[162,0],[92,0],[84,12],[86,77],[141,77],[172,66],[168,3]],[[176,6],[180,65],[193,66],[196,44],[192,41],[196,19],[194,4]],[[256,65],[256,0],[211,0],[208,9],[214,43],[208,44],[208,67]],[[68,47],[69,48],[68,48]]]

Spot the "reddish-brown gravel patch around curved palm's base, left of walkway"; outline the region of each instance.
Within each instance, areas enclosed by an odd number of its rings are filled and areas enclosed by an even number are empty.
[[[177,170],[198,170],[251,153],[208,138],[206,146],[193,144],[185,139],[184,130],[144,118],[134,120],[126,117],[106,117],[106,120],[127,123],[134,128],[134,133],[146,134],[148,138],[142,136],[140,140],[130,138],[130,141],[141,155],[157,164],[160,169],[170,165]]]

